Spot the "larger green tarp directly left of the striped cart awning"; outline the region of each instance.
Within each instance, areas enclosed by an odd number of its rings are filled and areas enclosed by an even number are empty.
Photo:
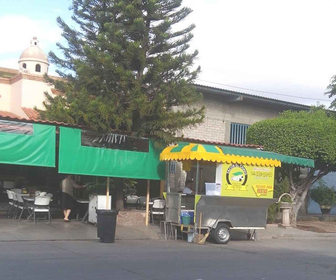
[[[60,173],[164,180],[159,155],[151,141],[149,153],[81,146],[80,129],[60,127]]]

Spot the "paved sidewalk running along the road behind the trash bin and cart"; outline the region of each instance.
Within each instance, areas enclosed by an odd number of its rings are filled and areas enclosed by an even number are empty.
[[[314,223],[314,224],[311,224]],[[326,233],[300,229],[282,229],[277,224],[269,224],[265,230],[258,230],[258,239],[330,239],[336,238],[336,223],[298,222],[305,227],[324,227]],[[53,219],[52,223],[13,221],[3,215],[0,218],[0,241],[40,241],[40,240],[98,240],[97,229],[90,224],[72,221],[64,223],[62,219]],[[159,226],[121,227],[117,226],[116,240],[158,240]],[[246,240],[247,231],[232,230],[232,240]]]

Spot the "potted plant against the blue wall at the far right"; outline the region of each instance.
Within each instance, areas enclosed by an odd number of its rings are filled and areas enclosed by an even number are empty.
[[[335,187],[328,187],[323,179],[318,181],[318,186],[310,191],[310,198],[320,205],[322,214],[329,214],[336,205]]]

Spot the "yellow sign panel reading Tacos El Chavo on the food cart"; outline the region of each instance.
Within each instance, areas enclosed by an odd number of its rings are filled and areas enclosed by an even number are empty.
[[[222,196],[273,198],[274,167],[222,164]]]

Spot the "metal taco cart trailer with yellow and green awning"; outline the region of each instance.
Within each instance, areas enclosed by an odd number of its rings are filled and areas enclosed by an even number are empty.
[[[248,237],[255,237],[255,230],[266,228],[267,208],[277,201],[273,198],[274,172],[281,162],[314,166],[313,160],[257,149],[192,143],[167,147],[160,160],[180,161],[187,172],[196,165],[195,194],[170,192],[167,176],[166,220],[181,227],[182,232],[190,232],[191,228],[194,234],[196,228],[206,230],[218,244],[229,242],[230,230],[249,230]],[[212,179],[207,178],[212,182],[203,182],[201,165],[209,163],[215,169]],[[211,173],[210,168],[207,170]],[[182,224],[183,212],[194,217],[192,225]]]

